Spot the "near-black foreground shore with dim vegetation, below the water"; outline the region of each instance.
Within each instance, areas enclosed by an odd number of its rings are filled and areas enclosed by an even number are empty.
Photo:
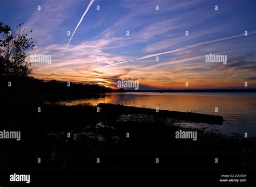
[[[167,111],[99,104],[97,112],[90,105],[41,103],[38,112],[34,99],[22,94],[1,98],[1,130],[21,131],[21,141],[0,141],[2,171],[255,169],[254,138],[197,130],[197,141],[176,139],[175,132],[184,129],[174,123],[186,119]]]

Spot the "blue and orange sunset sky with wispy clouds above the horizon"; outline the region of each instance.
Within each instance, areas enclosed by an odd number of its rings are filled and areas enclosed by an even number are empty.
[[[51,64],[32,63],[32,76],[111,88],[120,79],[138,80],[140,89],[244,88],[245,81],[256,88],[256,1],[95,0],[62,55],[89,3],[0,1],[0,21],[33,28],[28,55],[52,56]],[[227,55],[227,64],[205,62],[210,53]]]

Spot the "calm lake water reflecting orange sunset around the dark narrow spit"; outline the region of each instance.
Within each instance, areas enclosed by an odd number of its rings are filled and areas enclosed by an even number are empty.
[[[66,105],[119,103],[151,109],[159,107],[160,110],[215,114],[224,116],[223,125],[203,123],[182,123],[179,125],[196,128],[207,127],[205,131],[227,135],[247,132],[249,136],[256,136],[256,93],[106,93],[99,98],[62,100],[58,103]],[[218,112],[214,111],[215,107],[218,107]]]

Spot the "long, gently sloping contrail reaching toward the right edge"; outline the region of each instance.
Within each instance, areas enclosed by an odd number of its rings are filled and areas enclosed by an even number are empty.
[[[248,32],[248,34],[255,34],[255,33],[256,33],[256,31]],[[220,38],[220,39],[211,40],[211,41],[204,41],[204,42],[200,42],[198,44],[193,44],[193,45],[189,45],[189,46],[185,46],[185,47],[180,47],[180,48],[173,49],[173,50],[167,51],[167,52],[155,53],[155,54],[151,54],[151,55],[142,56],[139,59],[126,60],[126,61],[122,61],[122,62],[112,63],[112,64],[109,64],[109,65],[106,65],[106,66],[102,66],[102,67],[98,67],[98,68],[95,68],[95,69],[91,69],[91,70],[87,70],[87,71],[82,71],[80,73],[73,74],[73,75],[78,75],[78,74],[82,74],[82,73],[85,73],[85,72],[88,72],[88,71],[93,71],[93,70],[98,70],[98,69],[114,66],[114,65],[120,64],[120,63],[132,62],[132,61],[136,61],[136,60],[148,59],[148,58],[153,57],[153,56],[159,56],[159,55],[164,55],[164,54],[176,53],[176,52],[184,51],[186,49],[190,49],[190,48],[194,48],[194,47],[199,47],[199,46],[203,46],[203,45],[207,45],[207,44],[212,44],[212,43],[215,43],[215,42],[218,42],[218,41],[224,41],[224,40],[229,40],[229,39],[233,39],[233,38],[243,37],[243,36],[244,36],[244,34],[238,34],[238,35],[233,35],[232,37]]]

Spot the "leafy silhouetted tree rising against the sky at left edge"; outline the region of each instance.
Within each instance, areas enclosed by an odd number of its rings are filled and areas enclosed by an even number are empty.
[[[11,30],[9,25],[0,22],[0,75],[28,76],[32,69],[31,63],[26,62],[26,52],[32,50],[34,41],[23,24]],[[29,31],[32,32],[32,29]]]

